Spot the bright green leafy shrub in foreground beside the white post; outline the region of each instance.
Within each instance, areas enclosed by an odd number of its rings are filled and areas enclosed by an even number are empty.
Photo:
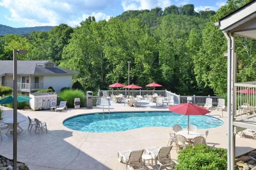
[[[179,152],[178,163],[175,170],[223,170],[227,169],[227,151],[206,145],[190,145]]]

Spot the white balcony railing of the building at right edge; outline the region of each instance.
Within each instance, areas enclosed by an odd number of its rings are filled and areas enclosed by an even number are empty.
[[[234,83],[234,118],[256,122],[256,81]]]

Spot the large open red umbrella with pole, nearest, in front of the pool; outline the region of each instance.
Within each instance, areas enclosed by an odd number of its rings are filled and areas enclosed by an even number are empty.
[[[168,109],[171,112],[187,115],[187,127],[189,126],[189,115],[205,115],[210,113],[208,109],[191,103],[170,106]],[[187,133],[189,133],[188,130]]]

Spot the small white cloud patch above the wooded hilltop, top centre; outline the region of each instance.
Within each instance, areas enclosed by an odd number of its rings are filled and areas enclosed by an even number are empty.
[[[170,0],[122,0],[123,10],[143,10],[156,7],[165,8],[171,5]]]

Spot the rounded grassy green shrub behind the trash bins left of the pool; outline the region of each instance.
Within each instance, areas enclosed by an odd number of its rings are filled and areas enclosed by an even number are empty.
[[[74,107],[74,100],[75,98],[80,98],[80,106],[84,106],[84,94],[81,90],[73,90],[73,89],[69,89],[69,90],[64,90],[62,92],[59,93],[59,98],[60,101],[67,101],[67,106],[68,107]]]

